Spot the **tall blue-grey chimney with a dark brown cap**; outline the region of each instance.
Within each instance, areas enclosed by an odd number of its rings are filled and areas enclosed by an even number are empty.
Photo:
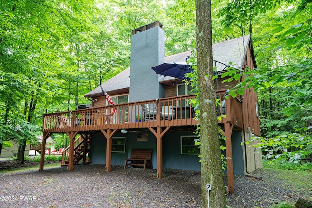
[[[165,61],[165,33],[158,21],[134,29],[131,36],[129,101],[163,97],[158,75],[151,69]]]

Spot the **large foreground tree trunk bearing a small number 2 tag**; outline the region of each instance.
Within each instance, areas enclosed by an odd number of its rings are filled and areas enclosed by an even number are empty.
[[[213,76],[211,0],[196,1],[196,44],[200,103],[202,207],[225,208]],[[206,75],[210,76],[206,76]],[[211,191],[206,185],[211,185]]]

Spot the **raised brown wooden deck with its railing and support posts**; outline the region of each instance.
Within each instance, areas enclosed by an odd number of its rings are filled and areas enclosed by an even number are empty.
[[[233,162],[232,162],[232,130],[243,129],[242,103],[237,98],[224,99],[224,90],[217,91],[221,106],[217,109],[219,115],[225,114],[220,119],[219,125],[223,134],[228,138],[225,141],[227,157],[228,190],[234,192]],[[49,113],[43,116],[43,142],[42,151],[45,149],[46,139],[53,133],[66,133],[70,139],[68,153],[68,171],[73,170],[77,154],[75,137],[85,135],[83,138],[84,147],[87,147],[87,138],[92,132],[102,132],[106,138],[106,167],[107,172],[111,171],[112,136],[117,130],[142,131],[143,128],[151,131],[157,142],[157,177],[162,178],[162,137],[171,127],[179,131],[185,129],[190,131],[198,124],[195,119],[195,108],[188,104],[188,100],[195,98],[194,95],[183,95],[157,100],[145,100],[125,104],[109,105],[99,108],[80,109],[60,113]],[[175,114],[172,114],[172,112]],[[116,113],[113,113],[116,112]],[[136,120],[141,115],[141,120]],[[186,127],[186,128],[183,128]],[[174,128],[173,128],[173,131]],[[80,138],[80,137],[79,137]],[[79,143],[79,144],[80,144]],[[84,154],[87,152],[83,151]],[[76,156],[75,156],[76,155]],[[84,155],[85,156],[85,155]],[[41,154],[40,168],[43,170],[44,154]]]

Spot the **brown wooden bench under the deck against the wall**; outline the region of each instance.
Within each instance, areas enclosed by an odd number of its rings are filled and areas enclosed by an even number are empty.
[[[127,166],[143,166],[144,171],[146,166],[150,166],[153,169],[152,161],[152,149],[132,149],[130,158],[126,159],[124,169]]]

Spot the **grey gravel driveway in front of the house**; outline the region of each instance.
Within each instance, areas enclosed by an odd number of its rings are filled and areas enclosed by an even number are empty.
[[[111,170],[87,164],[76,165],[70,172],[59,167],[0,173],[0,208],[201,207],[199,171],[166,169],[164,178],[157,179],[156,170],[151,169],[112,166]],[[312,199],[312,188],[294,191],[273,174],[274,170],[268,169],[253,173],[263,180],[234,176],[235,193],[227,195],[227,205],[269,207],[280,201],[295,202],[299,196]]]

